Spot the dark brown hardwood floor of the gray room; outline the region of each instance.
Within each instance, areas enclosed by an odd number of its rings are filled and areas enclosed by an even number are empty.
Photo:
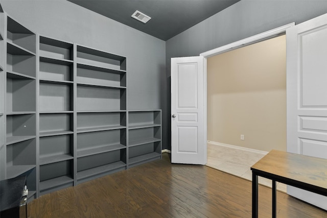
[[[29,217],[251,217],[251,182],[202,165],[162,160],[136,166],[28,205]],[[271,188],[259,187],[259,217],[271,217]],[[277,191],[277,217],[327,212]]]

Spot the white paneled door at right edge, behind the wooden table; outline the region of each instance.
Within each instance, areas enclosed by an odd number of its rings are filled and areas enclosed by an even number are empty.
[[[286,31],[287,151],[327,158],[327,14]],[[327,197],[287,187],[327,210]]]

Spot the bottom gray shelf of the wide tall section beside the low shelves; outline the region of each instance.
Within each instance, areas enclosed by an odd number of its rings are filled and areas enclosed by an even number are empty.
[[[125,167],[126,167],[126,163],[124,163],[123,161],[116,161],[98,167],[85,169],[84,171],[77,172],[77,180],[85,179],[88,177],[96,176],[110,171],[115,171],[115,169],[121,170]]]

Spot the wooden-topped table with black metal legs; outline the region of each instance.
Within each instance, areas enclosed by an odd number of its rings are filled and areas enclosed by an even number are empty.
[[[251,171],[252,217],[258,217],[258,176],[272,180],[272,217],[276,217],[276,182],[327,196],[327,159],[272,150]]]

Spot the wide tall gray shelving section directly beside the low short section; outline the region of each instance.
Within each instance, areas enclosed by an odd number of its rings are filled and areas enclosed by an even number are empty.
[[[77,45],[77,183],[126,169],[126,58]]]

